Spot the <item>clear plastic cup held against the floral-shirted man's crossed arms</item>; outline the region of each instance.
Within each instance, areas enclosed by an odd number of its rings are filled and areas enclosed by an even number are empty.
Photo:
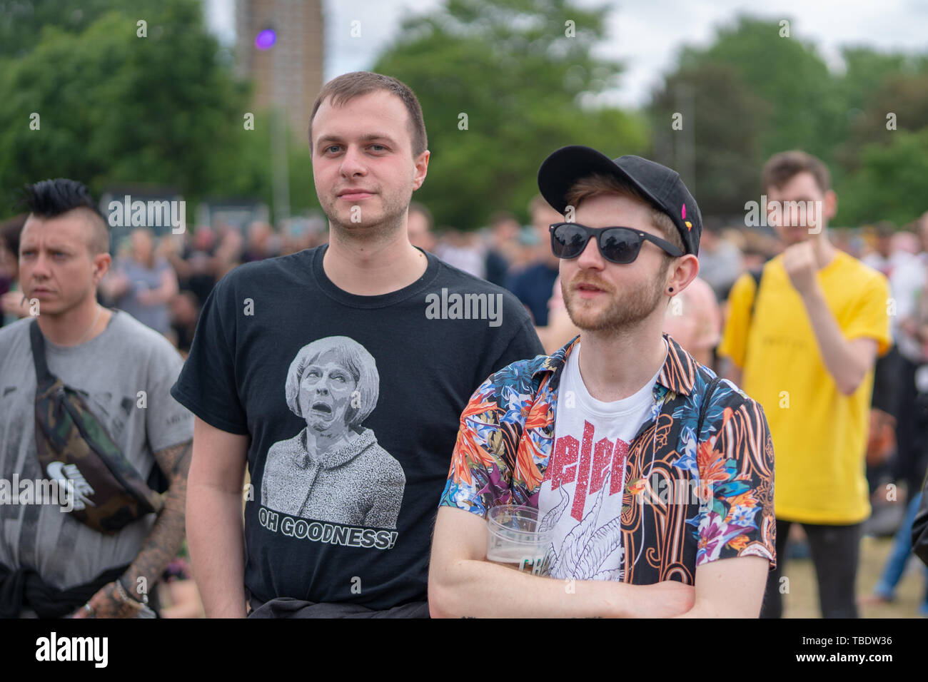
[[[486,560],[503,566],[548,575],[551,530],[540,530],[538,509],[500,505],[486,512]]]

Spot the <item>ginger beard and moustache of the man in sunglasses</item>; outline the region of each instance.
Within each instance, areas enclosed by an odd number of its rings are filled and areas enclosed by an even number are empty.
[[[599,277],[578,273],[570,282],[561,281],[567,315],[583,331],[614,331],[638,325],[654,312],[664,298],[664,272],[653,279],[639,279],[632,286],[616,290]],[[592,285],[603,293],[583,298],[579,289]]]

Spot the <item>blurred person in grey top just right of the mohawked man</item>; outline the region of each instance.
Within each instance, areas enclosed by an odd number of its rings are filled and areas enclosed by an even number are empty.
[[[167,260],[155,253],[154,234],[139,227],[130,234],[128,258],[120,258],[100,283],[113,306],[146,327],[167,335],[171,328],[168,303],[177,293],[177,275]]]

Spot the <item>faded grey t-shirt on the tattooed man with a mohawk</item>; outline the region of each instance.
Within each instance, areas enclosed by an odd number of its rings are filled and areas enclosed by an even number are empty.
[[[30,324],[27,317],[0,328],[0,478],[10,485],[14,473],[19,481],[48,478],[35,454]],[[143,479],[156,466],[153,453],[193,438],[193,416],[170,393],[183,364],[180,355],[131,315],[114,311],[103,333],[79,346],[46,339],[45,357],[52,374],[84,393],[84,402]],[[134,560],[154,521],[148,514],[106,535],[56,505],[0,504],[0,563],[32,568],[45,583],[67,589]]]

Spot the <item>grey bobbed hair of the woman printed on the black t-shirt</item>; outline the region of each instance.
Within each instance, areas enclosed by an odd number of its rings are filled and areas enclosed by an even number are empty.
[[[320,355],[333,352],[336,361],[354,379],[354,387],[358,392],[358,400],[352,400],[345,412],[345,424],[348,428],[360,425],[377,406],[380,397],[380,374],[374,356],[367,353],[367,349],[354,339],[346,336],[329,336],[308,343],[293,358],[290,369],[287,370],[287,406],[297,417],[303,417],[300,409],[300,383],[303,381],[303,372],[319,358]],[[357,403],[360,407],[354,407]]]

